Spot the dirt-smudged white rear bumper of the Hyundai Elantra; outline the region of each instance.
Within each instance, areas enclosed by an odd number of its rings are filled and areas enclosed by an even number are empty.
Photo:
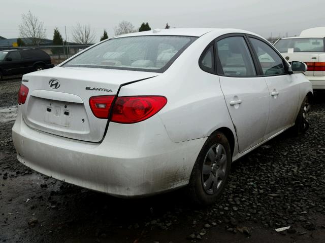
[[[143,123],[111,123],[104,141],[95,144],[31,129],[18,110],[12,136],[22,164],[88,189],[132,197],[186,185],[206,139],[174,143],[159,116]]]

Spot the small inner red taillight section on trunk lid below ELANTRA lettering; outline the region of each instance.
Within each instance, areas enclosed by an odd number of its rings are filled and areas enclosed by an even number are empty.
[[[108,119],[112,102],[115,95],[93,96],[89,98],[89,105],[92,113],[97,118]]]

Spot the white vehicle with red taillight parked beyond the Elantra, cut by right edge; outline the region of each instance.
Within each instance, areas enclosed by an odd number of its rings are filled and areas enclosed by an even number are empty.
[[[313,89],[325,90],[325,27],[305,29],[300,36],[279,39],[274,46],[289,63],[305,62],[304,74]]]

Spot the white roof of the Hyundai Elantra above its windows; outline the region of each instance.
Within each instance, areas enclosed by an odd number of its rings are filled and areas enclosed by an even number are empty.
[[[181,35],[181,36],[195,36],[200,37],[208,32],[214,33],[248,33],[254,34],[252,32],[242,30],[242,29],[224,29],[224,28],[170,28],[170,29],[154,29],[143,32],[129,33],[129,34],[121,34],[117,36],[113,36],[112,38],[119,37],[129,37],[129,36],[143,36],[143,35]],[[257,34],[254,34],[257,35]],[[259,36],[259,35],[257,35]]]

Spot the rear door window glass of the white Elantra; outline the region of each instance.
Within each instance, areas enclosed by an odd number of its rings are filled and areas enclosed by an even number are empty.
[[[221,72],[225,76],[256,76],[256,70],[243,36],[231,36],[216,43]]]

